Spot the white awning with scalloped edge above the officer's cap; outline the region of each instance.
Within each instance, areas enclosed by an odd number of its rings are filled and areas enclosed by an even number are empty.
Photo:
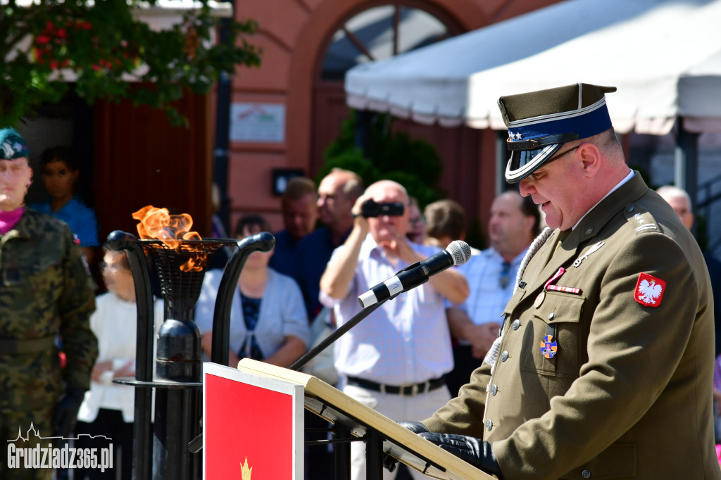
[[[420,123],[505,129],[502,95],[576,82],[606,95],[619,133],[676,117],[721,131],[721,0],[568,0],[345,77],[348,105]]]

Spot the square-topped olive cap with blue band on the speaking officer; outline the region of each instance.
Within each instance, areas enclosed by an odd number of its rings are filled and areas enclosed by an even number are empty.
[[[611,128],[606,93],[615,86],[573,84],[498,99],[508,127],[510,160],[505,180],[518,183],[551,159],[561,146]]]

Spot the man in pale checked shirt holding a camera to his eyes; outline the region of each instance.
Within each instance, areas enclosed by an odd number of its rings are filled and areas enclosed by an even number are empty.
[[[409,204],[402,185],[381,180],[353,205],[353,229],[320,281],[320,300],[335,309],[338,325],[358,313],[358,295],[438,252],[407,240]],[[468,293],[463,275],[445,270],[387,301],[340,337],[335,366],[345,394],[392,419],[425,418],[446,404],[450,394],[443,375],[453,368],[453,354],[443,302],[460,303]],[[384,471],[384,479],[394,475]],[[351,446],[351,478],[366,478],[361,442]]]

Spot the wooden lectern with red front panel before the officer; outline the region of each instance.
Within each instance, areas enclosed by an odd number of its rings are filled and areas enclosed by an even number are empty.
[[[222,386],[218,378],[241,385]],[[382,468],[386,453],[434,479],[493,478],[312,375],[246,358],[237,370],[205,363],[203,384],[205,480],[251,480],[251,474],[266,479],[302,479],[303,407],[334,425],[336,439],[332,441],[346,471],[350,471],[348,442],[357,440],[366,442],[369,479],[380,478],[379,471],[371,471],[371,463],[373,468]],[[231,404],[231,408],[223,404]],[[241,426],[231,417],[241,418]],[[270,422],[271,417],[275,424]],[[270,436],[264,438],[269,431]],[[225,445],[232,443],[232,438],[237,441],[239,435],[247,437],[246,443],[237,448],[243,451],[227,451]],[[262,461],[267,462],[262,458],[264,449],[274,458],[267,467],[262,466]],[[225,463],[226,469],[218,463]],[[251,472],[251,468],[255,471]],[[263,468],[284,469],[268,476],[268,471],[261,473]],[[242,472],[242,476],[234,472]],[[342,471],[337,478],[348,476]]]

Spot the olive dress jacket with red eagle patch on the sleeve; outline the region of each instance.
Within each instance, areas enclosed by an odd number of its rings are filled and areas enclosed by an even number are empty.
[[[495,366],[423,423],[492,443],[507,480],[721,479],[712,293],[693,236],[636,172],[558,239],[505,309]],[[566,291],[545,287],[560,267],[550,285]]]

